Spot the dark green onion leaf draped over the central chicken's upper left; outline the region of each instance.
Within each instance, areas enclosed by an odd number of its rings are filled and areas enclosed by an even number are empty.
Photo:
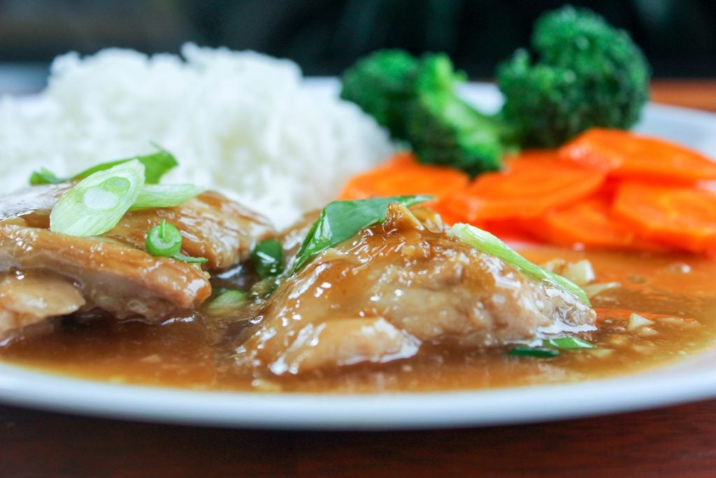
[[[291,274],[301,269],[301,266],[319,252],[350,239],[361,229],[383,221],[388,204],[400,203],[410,207],[430,199],[433,199],[432,196],[393,196],[358,201],[333,201],[321,211],[319,219],[301,244]]]

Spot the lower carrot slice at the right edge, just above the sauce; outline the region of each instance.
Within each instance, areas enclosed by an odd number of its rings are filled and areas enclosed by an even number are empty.
[[[634,181],[619,186],[614,212],[644,234],[694,252],[716,249],[716,192]]]

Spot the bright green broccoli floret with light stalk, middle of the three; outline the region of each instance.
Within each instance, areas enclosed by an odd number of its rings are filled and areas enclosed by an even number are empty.
[[[406,130],[421,163],[475,176],[500,168],[505,128],[458,97],[455,86],[463,80],[446,55],[425,55],[416,71]]]

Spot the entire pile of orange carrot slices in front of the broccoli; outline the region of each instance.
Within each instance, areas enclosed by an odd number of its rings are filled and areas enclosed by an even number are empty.
[[[612,249],[679,248],[716,258],[716,163],[681,146],[593,129],[559,150],[525,151],[472,183],[400,153],[352,178],[342,199],[427,193],[446,224],[506,240]]]

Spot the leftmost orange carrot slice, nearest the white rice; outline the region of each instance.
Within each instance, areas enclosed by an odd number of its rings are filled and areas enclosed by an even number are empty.
[[[340,199],[429,194],[437,199],[467,186],[470,178],[445,166],[420,164],[410,153],[398,153],[387,163],[349,179]]]

